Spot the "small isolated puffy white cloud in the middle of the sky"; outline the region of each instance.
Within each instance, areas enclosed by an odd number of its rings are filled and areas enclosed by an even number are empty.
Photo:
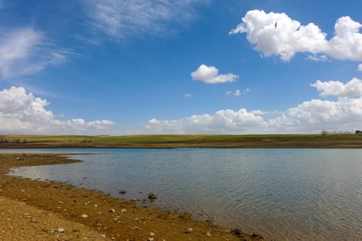
[[[191,73],[194,81],[202,81],[207,84],[227,83],[236,81],[236,74],[219,74],[219,70],[214,66],[200,65],[197,70]]]

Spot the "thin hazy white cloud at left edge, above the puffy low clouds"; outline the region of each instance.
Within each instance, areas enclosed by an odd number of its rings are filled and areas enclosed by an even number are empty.
[[[19,28],[0,34],[0,78],[34,74],[47,65],[66,60],[65,50],[55,50],[43,33]]]

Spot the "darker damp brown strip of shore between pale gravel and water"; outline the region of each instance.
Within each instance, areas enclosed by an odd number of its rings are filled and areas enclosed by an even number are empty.
[[[196,220],[190,213],[140,207],[134,200],[112,198],[101,191],[77,188],[64,182],[6,175],[11,167],[80,161],[68,159],[65,155],[0,154],[0,200],[8,198],[40,211],[53,213],[66,222],[82,224],[99,233],[99,237],[111,240],[263,240],[260,235],[220,227],[212,221]],[[82,218],[83,214],[87,218]],[[39,232],[42,232],[41,229],[39,225]],[[61,234],[67,233],[69,231]],[[46,234],[43,231],[44,237]]]

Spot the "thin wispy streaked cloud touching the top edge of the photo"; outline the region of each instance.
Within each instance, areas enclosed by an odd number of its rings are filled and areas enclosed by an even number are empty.
[[[167,35],[167,23],[194,19],[194,6],[205,0],[89,0],[84,1],[90,24],[109,36]]]

